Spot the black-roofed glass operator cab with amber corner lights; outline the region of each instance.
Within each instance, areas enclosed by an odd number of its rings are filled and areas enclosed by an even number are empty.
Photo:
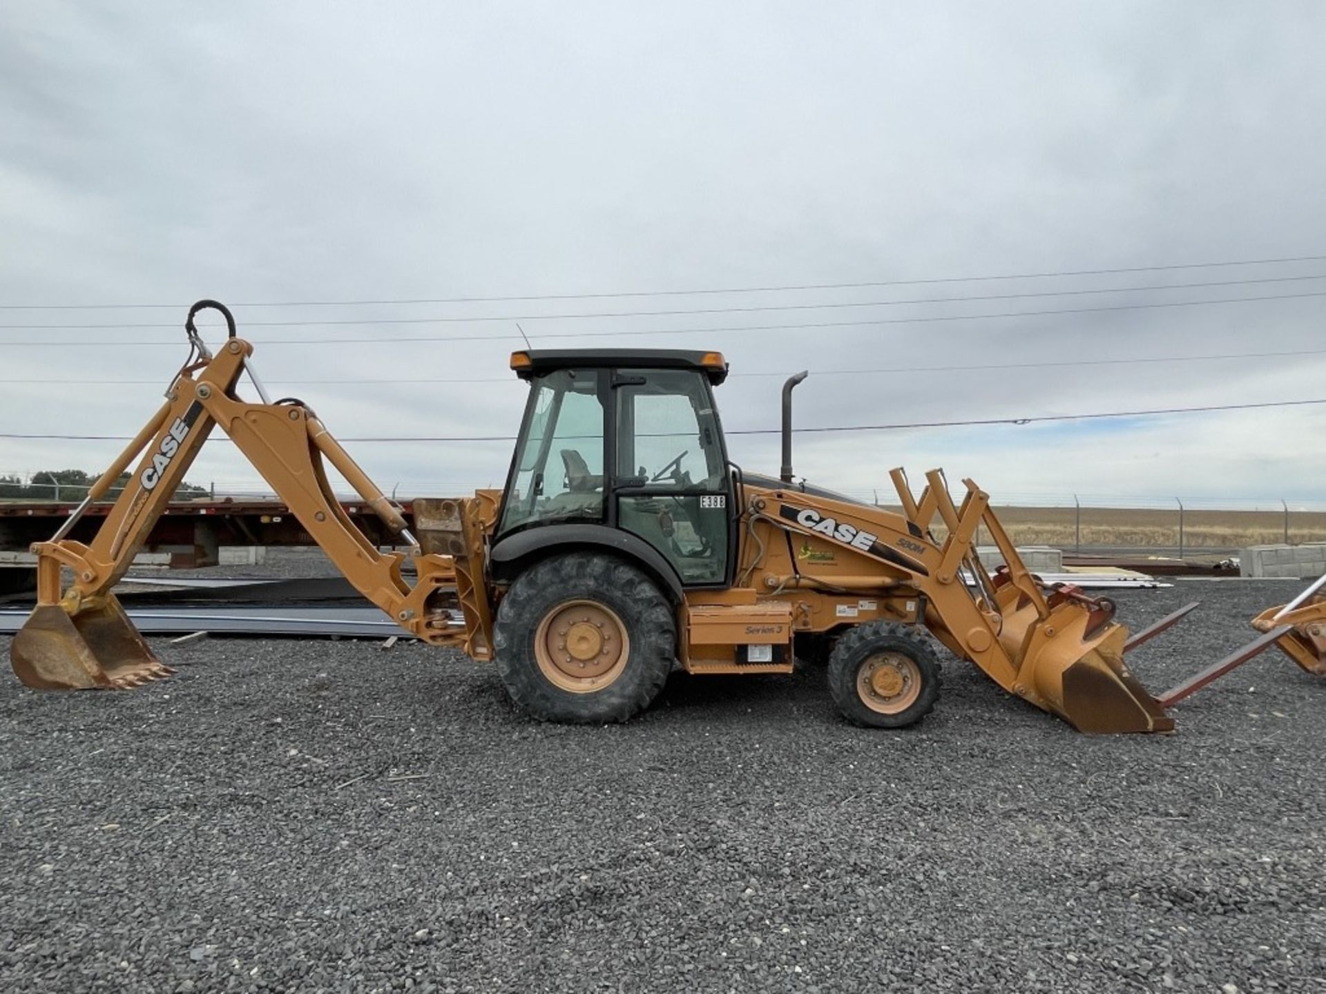
[[[530,391],[495,547],[532,529],[548,531],[522,546],[626,531],[683,587],[724,586],[733,494],[712,390],[723,355],[530,350],[511,366]],[[598,527],[572,527],[586,525]]]

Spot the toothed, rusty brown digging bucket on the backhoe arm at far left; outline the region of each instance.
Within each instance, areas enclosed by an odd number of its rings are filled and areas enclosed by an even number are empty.
[[[19,680],[38,690],[127,689],[174,672],[110,594],[73,614],[62,604],[37,607],[13,636],[9,661]]]

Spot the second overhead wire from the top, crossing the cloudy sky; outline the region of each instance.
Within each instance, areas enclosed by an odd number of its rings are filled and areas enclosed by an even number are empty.
[[[760,304],[743,307],[684,307],[672,310],[605,310],[585,314],[483,314],[477,317],[446,318],[337,318],[329,321],[245,321],[245,327],[333,327],[363,325],[461,325],[495,321],[589,321],[595,318],[660,318],[696,314],[758,314],[789,310],[837,310],[845,307],[899,307],[916,304],[971,304],[987,301],[1028,300],[1034,297],[1082,297],[1101,293],[1148,293],[1152,290],[1193,290],[1212,286],[1248,286],[1254,284],[1286,284],[1303,280],[1326,280],[1326,273],[1303,276],[1266,276],[1254,280],[1209,280],[1195,284],[1158,284],[1152,286],[1095,286],[1073,290],[1026,290],[1021,293],[988,293],[967,297],[911,297],[900,301],[830,301],[827,304]],[[70,331],[70,330],[149,330],[154,327],[178,329],[176,323],[98,323],[98,325],[0,325],[4,331]],[[518,327],[518,326],[517,326]],[[524,333],[521,333],[524,335]]]

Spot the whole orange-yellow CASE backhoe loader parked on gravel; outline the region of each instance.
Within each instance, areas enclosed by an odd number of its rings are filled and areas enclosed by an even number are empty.
[[[212,355],[195,326],[220,311]],[[792,390],[782,472],[728,460],[704,351],[518,351],[530,386],[505,489],[414,502],[414,530],[302,402],[271,402],[253,346],[215,301],[184,322],[191,351],[166,403],[38,557],[38,604],[15,637],[36,688],[126,688],[166,676],[111,587],[123,577],[203,443],[220,429],[369,600],[434,645],[493,660],[512,698],[550,721],[623,721],[676,663],[691,673],[788,673],[798,645],[827,651],[842,714],[900,728],[935,705],[927,631],[1000,687],[1083,732],[1168,732],[1174,720],[1123,661],[1188,608],[1130,637],[1114,604],[1032,575],[971,480],[960,501],[939,470],[903,512],[794,482]],[[249,374],[261,400],[237,395]],[[90,545],[66,535],[137,460]],[[325,463],[399,535],[381,551],[342,510]],[[984,525],[1005,566],[973,547]],[[410,569],[412,567],[412,569]],[[68,586],[62,574],[69,577]],[[1189,608],[1193,606],[1189,606]]]

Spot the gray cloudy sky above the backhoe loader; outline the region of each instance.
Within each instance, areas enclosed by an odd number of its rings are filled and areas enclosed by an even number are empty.
[[[1317,3],[11,0],[0,304],[176,306],[0,310],[0,433],[133,435],[183,358],[179,323],[199,297],[599,294],[1326,256],[1323,56]],[[1098,289],[1114,292],[1081,293]],[[808,427],[1326,399],[1314,293],[1326,258],[236,313],[263,378],[333,432],[448,436],[516,429],[516,317],[550,346],[721,349],[727,427],[772,428],[780,376],[768,374],[802,367]],[[952,297],[987,300],[898,302]],[[1278,300],[902,321],[1237,297]],[[455,321],[479,317],[512,319]],[[382,323],[403,318],[434,321]],[[363,323],[257,323],[277,321]],[[809,327],[850,321],[891,323]],[[676,334],[768,325],[798,327]],[[463,341],[436,341],[448,335]],[[1250,353],[1296,354],[1203,358]],[[1113,362],[1171,357],[1188,358]],[[994,364],[1013,368],[924,368]],[[903,464],[972,476],[996,502],[1314,505],[1323,437],[1326,404],[802,435],[796,463],[862,494]],[[492,443],[350,448],[402,496],[499,485],[509,459]],[[731,448],[777,469],[773,436]],[[0,472],[97,469],[115,449],[0,437]],[[257,480],[224,443],[191,478]]]

